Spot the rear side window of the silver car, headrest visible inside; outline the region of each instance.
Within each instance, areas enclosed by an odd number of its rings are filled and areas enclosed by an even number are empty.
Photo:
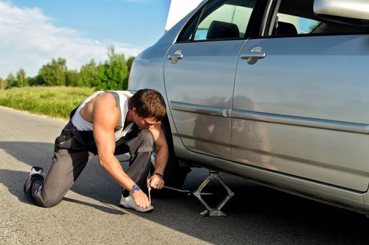
[[[178,41],[212,41],[244,38],[256,0],[219,0],[194,15]]]

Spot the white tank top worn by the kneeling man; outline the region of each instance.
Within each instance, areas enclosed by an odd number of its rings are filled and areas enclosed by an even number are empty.
[[[87,122],[87,120],[83,119],[80,116],[80,110],[85,106],[87,102],[89,102],[91,99],[97,96],[97,94],[101,94],[104,91],[96,91],[87,99],[85,99],[80,106],[78,106],[78,109],[75,111],[75,114],[72,117],[72,123],[79,131],[93,131],[94,125],[92,123]],[[115,102],[117,104],[118,109],[120,110],[120,122],[118,123],[117,127],[115,127],[115,141],[118,139],[124,137],[128,132],[131,132],[131,128],[133,126],[133,122],[131,122],[126,128],[124,128],[124,122],[126,120],[126,114],[128,113],[129,107],[128,107],[128,99],[124,94],[127,94],[129,96],[132,96],[129,91],[122,91],[122,90],[115,90],[115,91],[106,91],[106,92],[112,92],[113,96],[115,98]]]

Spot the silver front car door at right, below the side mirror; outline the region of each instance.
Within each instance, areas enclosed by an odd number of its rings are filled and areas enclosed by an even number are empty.
[[[282,0],[279,18],[269,19],[276,28],[240,52],[231,159],[365,192],[369,36],[345,25],[305,25],[288,10],[312,16],[312,9],[284,3],[293,1]]]

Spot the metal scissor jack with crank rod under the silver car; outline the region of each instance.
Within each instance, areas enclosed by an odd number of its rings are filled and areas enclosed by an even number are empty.
[[[226,189],[226,191],[228,193],[226,195],[226,197],[224,197],[224,199],[221,202],[219,202],[219,204],[215,208],[210,207],[209,204],[207,202],[205,202],[205,200],[203,200],[203,198],[201,197],[201,195],[212,195],[212,193],[201,193],[203,188],[205,188],[205,186],[207,186],[208,183],[212,179],[216,179],[217,181],[219,181],[219,183],[222,184],[222,186],[224,187],[224,189]],[[234,195],[233,191],[226,185],[226,183],[224,183],[223,179],[219,176],[219,173],[217,171],[214,171],[214,170],[209,171],[209,176],[194,191],[180,190],[180,189],[172,188],[172,187],[169,187],[169,186],[164,186],[164,188],[167,188],[169,190],[175,190],[175,191],[178,191],[180,193],[187,193],[187,195],[194,195],[206,208],[204,211],[202,211],[200,213],[202,216],[226,216],[226,214],[224,214],[224,212],[222,212],[220,209],[222,209],[222,207],[224,207],[224,205]]]

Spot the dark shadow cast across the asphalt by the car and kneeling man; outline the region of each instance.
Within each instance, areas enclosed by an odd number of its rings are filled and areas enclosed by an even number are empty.
[[[40,165],[48,169],[53,146],[35,142],[0,142],[0,149],[29,166]],[[194,169],[183,188],[196,189],[206,174],[202,169]],[[1,183],[20,202],[31,204],[22,191],[27,175],[27,172],[0,169]],[[135,214],[212,244],[367,244],[369,240],[369,220],[361,214],[256,186],[226,174],[222,177],[235,193],[224,207],[227,217],[200,216],[204,210],[202,204],[187,195],[156,198],[152,201],[155,207],[152,213]],[[96,159],[87,165],[72,190],[113,207],[117,207],[120,199],[120,187],[101,169]],[[210,203],[214,204],[222,197],[224,193],[220,190],[217,182],[210,183],[205,190],[215,194],[208,200]],[[71,198],[65,197],[63,202],[121,214],[119,209]]]

